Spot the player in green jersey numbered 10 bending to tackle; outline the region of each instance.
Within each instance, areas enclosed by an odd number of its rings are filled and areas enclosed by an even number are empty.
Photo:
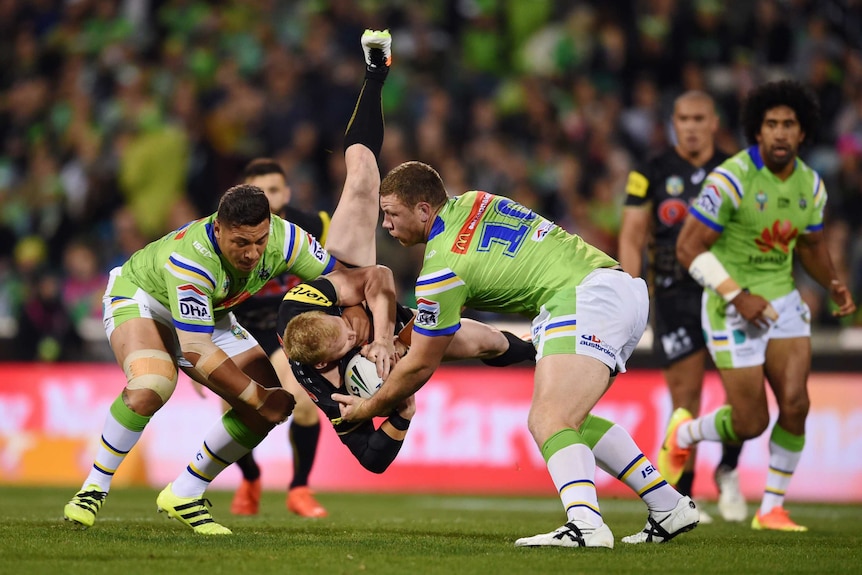
[[[370,399],[333,394],[342,419],[388,414],[419,390],[461,329],[464,306],[527,314],[536,347],[527,423],[566,523],[515,545],[612,548],[594,483],[597,463],[647,503],[646,529],[630,542],[667,541],[693,529],[691,499],[661,477],[622,427],[590,414],[646,327],[644,281],[508,198],[474,191],[450,199],[439,174],[421,162],[386,175],[380,206],[391,236],[405,246],[426,244],[412,347]]]

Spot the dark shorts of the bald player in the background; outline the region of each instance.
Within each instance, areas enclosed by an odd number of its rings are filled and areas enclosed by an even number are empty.
[[[698,287],[663,290],[653,296],[653,351],[663,367],[706,347],[700,323],[702,294]]]

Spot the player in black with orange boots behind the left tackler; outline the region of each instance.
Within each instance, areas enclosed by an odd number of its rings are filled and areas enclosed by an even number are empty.
[[[318,212],[308,214],[288,205],[290,187],[287,185],[284,170],[277,161],[258,158],[251,161],[243,170],[243,182],[259,187],[269,200],[273,214],[297,224],[310,234],[326,243],[329,231],[329,214]],[[326,509],[314,498],[308,487],[308,476],[314,466],[317,442],[320,438],[320,417],[317,407],[308,395],[296,385],[290,372],[287,358],[281,351],[275,327],[278,318],[278,304],[284,294],[301,280],[290,274],[273,278],[255,297],[246,300],[236,310],[239,322],[260,343],[269,356],[281,384],[293,394],[296,406],[287,430],[287,437],[293,453],[293,478],[287,491],[287,509],[302,517],[326,517]],[[260,467],[254,460],[254,453],[248,452],[237,465],[242,470],[242,483],[231,503],[231,513],[235,515],[255,515],[260,506]]]

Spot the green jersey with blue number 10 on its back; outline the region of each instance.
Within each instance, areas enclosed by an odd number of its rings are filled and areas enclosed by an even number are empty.
[[[509,198],[467,192],[451,198],[431,228],[416,280],[413,329],[432,336],[455,333],[463,306],[535,316],[559,290],[616,264]]]

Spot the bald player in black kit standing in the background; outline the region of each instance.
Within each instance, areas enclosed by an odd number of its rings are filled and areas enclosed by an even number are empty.
[[[688,206],[697,197],[706,175],[728,158],[715,149],[718,116],[715,102],[704,92],[679,96],[673,107],[676,145],[629,173],[619,236],[620,265],[641,275],[644,248],[650,249],[648,278],[652,284],[654,352],[661,358],[673,409],[700,412],[706,362],[706,342],[700,326],[703,288],[676,259],[676,240]],[[726,521],[743,521],[745,499],[739,490],[740,445],[723,444],[715,470],[718,510]],[[695,458],[689,458],[676,484],[691,495]],[[701,523],[711,518],[700,511]]]

